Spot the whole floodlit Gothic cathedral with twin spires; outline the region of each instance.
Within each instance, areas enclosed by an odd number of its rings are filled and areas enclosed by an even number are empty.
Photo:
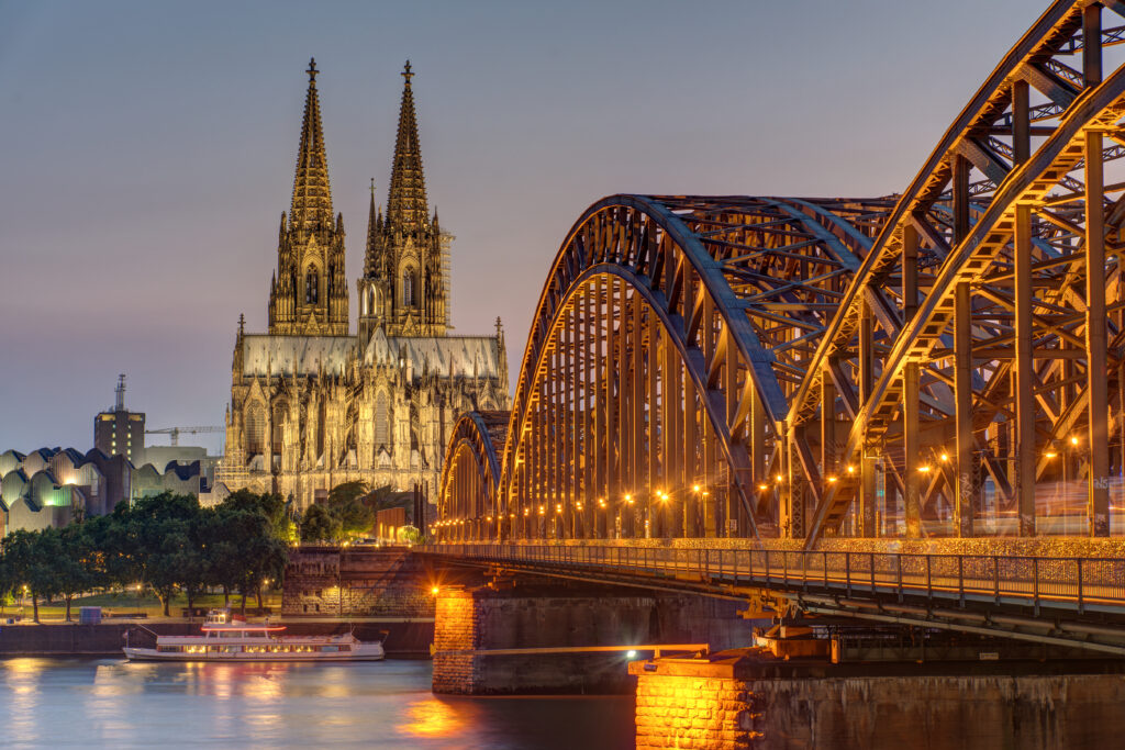
[[[350,333],[343,215],[332,207],[315,62],[288,216],[281,214],[267,333],[240,316],[217,479],[277,491],[299,508],[345,481],[436,491],[449,433],[470,409],[508,408],[500,318],[454,336],[452,235],[430,214],[410,62],[387,211],[368,215],[359,325]]]

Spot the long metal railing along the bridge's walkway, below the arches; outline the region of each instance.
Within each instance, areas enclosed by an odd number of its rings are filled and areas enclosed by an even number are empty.
[[[573,571],[598,569],[846,596],[926,596],[1036,607],[1125,609],[1125,559],[555,544],[432,544],[421,552]]]

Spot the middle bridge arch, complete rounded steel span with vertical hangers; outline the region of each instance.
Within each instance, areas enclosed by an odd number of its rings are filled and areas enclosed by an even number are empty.
[[[532,322],[495,533],[776,530],[789,394],[890,200],[612,196]],[[760,489],[759,489],[760,488]]]

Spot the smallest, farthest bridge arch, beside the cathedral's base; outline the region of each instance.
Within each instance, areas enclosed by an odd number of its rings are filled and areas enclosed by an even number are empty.
[[[442,463],[438,526],[442,539],[480,539],[496,508],[500,451],[508,412],[469,412],[453,425]]]

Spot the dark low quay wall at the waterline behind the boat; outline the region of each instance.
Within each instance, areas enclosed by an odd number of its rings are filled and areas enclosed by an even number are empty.
[[[361,641],[382,638],[387,657],[392,659],[429,659],[433,643],[432,618],[364,617],[339,621],[330,618],[284,618],[289,635],[336,635],[354,633]],[[119,657],[126,634],[134,643],[151,643],[154,634],[192,635],[199,632],[199,620],[163,618],[80,625],[44,623],[0,625],[0,659],[8,657]],[[140,641],[137,641],[140,639]]]

